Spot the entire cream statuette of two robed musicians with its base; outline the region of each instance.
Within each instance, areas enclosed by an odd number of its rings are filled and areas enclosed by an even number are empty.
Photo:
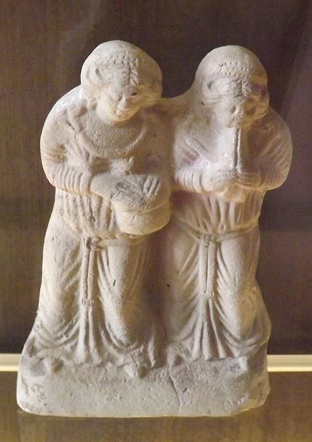
[[[102,44],[43,127],[56,198],[23,410],[226,416],[269,392],[257,218],[289,131],[244,48],[210,52],[181,97],[160,99],[161,78],[139,48]]]

